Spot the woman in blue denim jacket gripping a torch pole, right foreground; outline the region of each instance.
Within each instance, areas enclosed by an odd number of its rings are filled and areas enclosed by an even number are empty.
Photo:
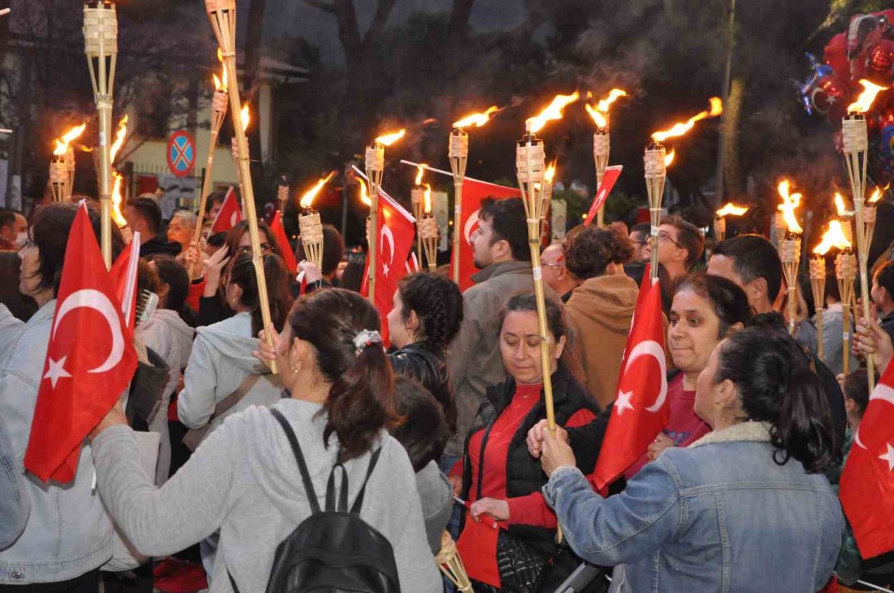
[[[839,462],[822,386],[788,335],[739,331],[696,385],[713,432],[669,448],[603,499],[575,467],[565,433],[539,436],[544,496],[570,547],[624,564],[619,591],[817,591],[844,521],[822,472]]]

